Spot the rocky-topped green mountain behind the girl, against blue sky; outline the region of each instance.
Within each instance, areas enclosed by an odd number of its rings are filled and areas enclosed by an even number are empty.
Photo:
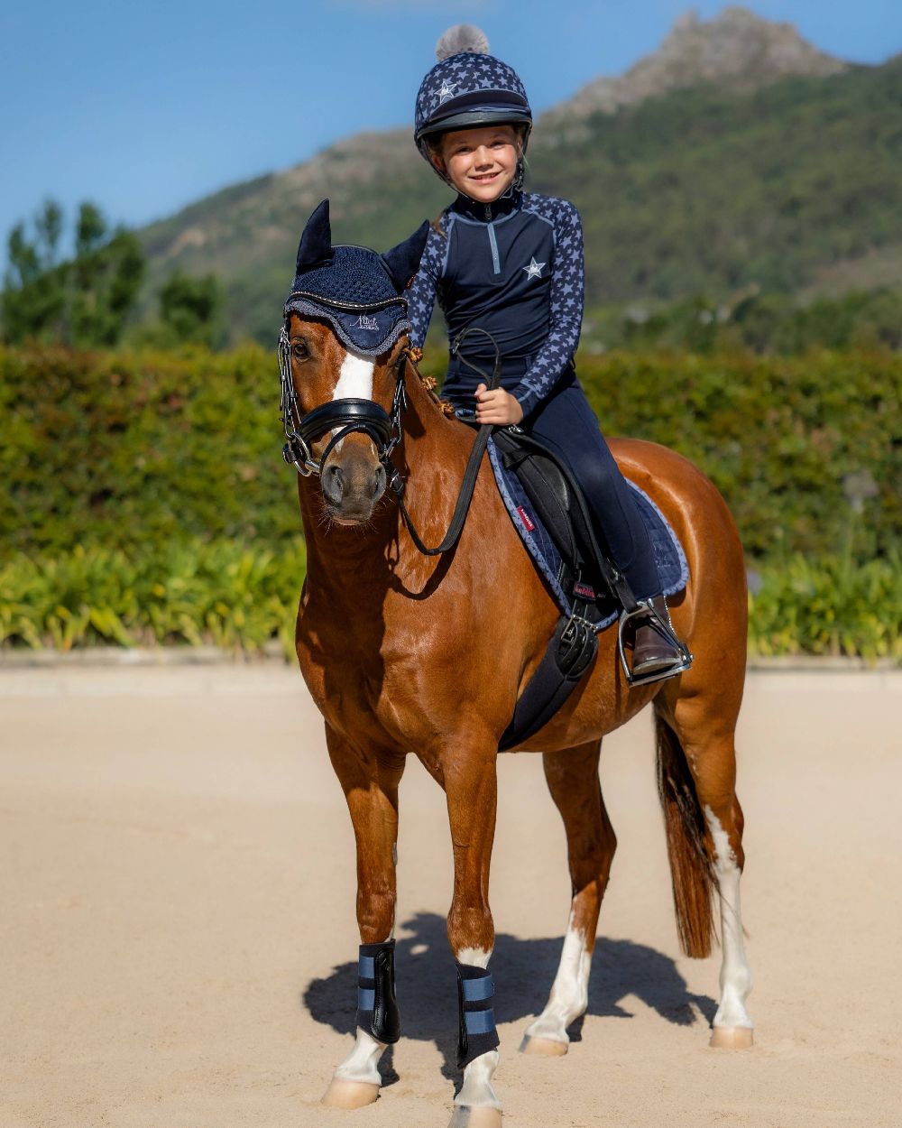
[[[581,209],[591,302],[811,288],[846,263],[866,279],[863,263],[902,248],[901,95],[900,61],[850,67],[742,8],[689,14],[539,118],[529,183]],[[298,232],[327,195],[336,238],[378,247],[448,202],[408,129],[360,134],[144,229],[149,293],[174,268],[215,272],[230,338],[271,340]]]

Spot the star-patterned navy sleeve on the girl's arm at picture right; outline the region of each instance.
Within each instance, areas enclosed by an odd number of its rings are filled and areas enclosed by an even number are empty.
[[[540,208],[539,201],[545,206]],[[583,321],[585,287],[580,213],[566,200],[533,196],[528,206],[554,221],[555,273],[551,279],[551,323],[548,337],[513,393],[523,408],[523,415],[529,415],[545,399],[576,352]]]

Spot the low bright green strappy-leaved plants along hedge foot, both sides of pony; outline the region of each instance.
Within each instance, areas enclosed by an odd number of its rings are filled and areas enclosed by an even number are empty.
[[[0,565],[0,647],[212,643],[293,653],[303,541],[274,554],[232,541],[152,554],[76,548]],[[750,575],[753,654],[863,654],[902,660],[902,557],[789,557]]]

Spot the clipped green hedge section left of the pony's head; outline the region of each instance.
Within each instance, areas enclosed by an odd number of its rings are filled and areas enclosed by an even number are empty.
[[[0,543],[61,553],[300,531],[278,372],[229,354],[0,349]]]

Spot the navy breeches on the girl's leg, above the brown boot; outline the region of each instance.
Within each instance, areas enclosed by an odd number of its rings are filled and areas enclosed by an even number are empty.
[[[572,370],[524,420],[523,429],[557,449],[583,487],[617,567],[637,599],[661,594],[652,543],[627,485],[604,441],[595,413]]]

